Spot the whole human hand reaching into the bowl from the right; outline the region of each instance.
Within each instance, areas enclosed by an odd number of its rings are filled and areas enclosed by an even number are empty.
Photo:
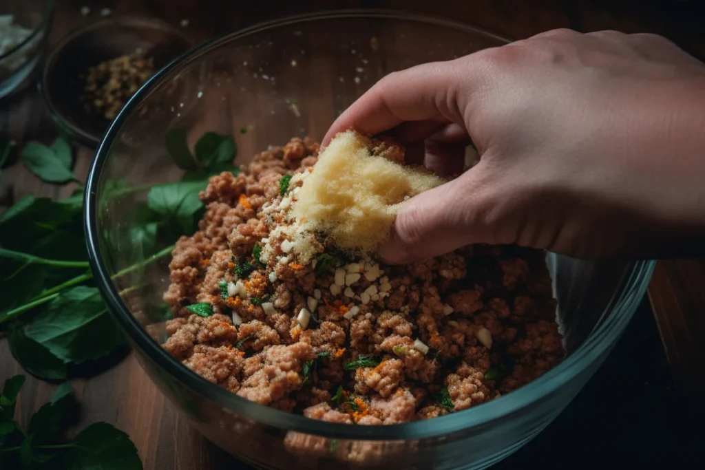
[[[705,66],[662,37],[554,30],[392,73],[323,144],[348,128],[420,145],[441,173],[470,137],[481,155],[403,204],[391,264],[471,243],[651,258],[705,240]]]

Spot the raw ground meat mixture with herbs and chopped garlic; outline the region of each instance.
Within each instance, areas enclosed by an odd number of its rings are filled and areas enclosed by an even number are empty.
[[[169,266],[174,358],[247,400],[360,425],[477,406],[563,359],[541,252],[474,245],[385,266],[319,236],[299,262],[287,214],[318,152],[294,138],[211,178],[200,230]]]

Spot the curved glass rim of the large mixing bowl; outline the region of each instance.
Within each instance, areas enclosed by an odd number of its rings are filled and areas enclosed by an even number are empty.
[[[125,104],[121,112],[118,113],[118,116],[113,120],[102,142],[99,144],[88,174],[84,196],[84,225],[92,272],[94,273],[99,290],[114,319],[120,323],[133,343],[137,345],[144,354],[147,354],[149,360],[153,361],[159,368],[164,369],[164,371],[169,373],[173,378],[176,378],[181,384],[245,419],[252,419],[258,423],[275,428],[283,428],[288,431],[298,431],[327,438],[348,440],[437,438],[470,428],[489,426],[513,414],[520,413],[523,409],[535,402],[539,402],[553,394],[562,388],[565,383],[570,382],[573,378],[582,373],[584,369],[587,369],[590,364],[598,360],[603,352],[610,350],[632,318],[636,304],[640,300],[640,297],[636,295],[636,290],[646,287],[651,271],[653,271],[655,261],[635,261],[632,271],[628,273],[630,280],[625,284],[625,290],[621,292],[623,302],[617,302],[614,305],[613,314],[606,319],[601,326],[596,328],[594,333],[592,333],[575,352],[558,364],[558,366],[522,388],[508,393],[507,395],[503,395],[497,400],[486,402],[478,407],[471,407],[470,409],[434,419],[384,426],[350,426],[349,424],[328,423],[326,421],[308,419],[298,414],[283,412],[255,402],[250,402],[213,383],[209,383],[206,379],[173,359],[166,350],[149,336],[145,328],[142,328],[142,326],[137,323],[135,317],[125,306],[110,279],[110,274],[106,269],[102,256],[99,254],[97,193],[102,168],[104,167],[113,142],[116,140],[116,136],[119,134],[125,119],[128,118],[133,109],[140,104],[143,97],[147,97],[152,89],[164,82],[176,70],[197,60],[197,58],[200,58],[200,56],[208,51],[217,49],[221,45],[233,40],[242,39],[253,33],[275,29],[276,27],[284,25],[341,18],[385,18],[389,20],[403,20],[452,27],[456,30],[472,32],[484,37],[492,37],[503,42],[510,42],[510,39],[507,37],[485,30],[484,28],[450,20],[448,18],[389,9],[359,8],[305,13],[269,20],[214,37],[190,51],[187,51],[185,54],[182,54],[180,57],[164,66],[164,68],[159,70],[159,72],[140,87],[133,97],[130,98],[128,103]]]

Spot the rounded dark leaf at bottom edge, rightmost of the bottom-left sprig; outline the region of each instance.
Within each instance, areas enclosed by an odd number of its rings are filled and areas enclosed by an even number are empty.
[[[142,470],[128,435],[108,423],[94,423],[71,441],[65,470]]]

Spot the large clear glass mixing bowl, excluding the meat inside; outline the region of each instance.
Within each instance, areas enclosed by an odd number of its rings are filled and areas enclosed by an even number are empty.
[[[451,20],[388,11],[286,18],[197,47],[125,106],[87,182],[92,268],[142,366],[207,438],[271,469],[480,469],[537,435],[600,366],[644,295],[649,261],[547,254],[568,357],[520,390],[428,421],[349,426],[288,414],[212,385],[159,346],[166,337],[159,311],[168,286],[168,250],[150,256],[161,247],[146,252],[133,229],[147,188],[183,175],[165,150],[168,129],[184,128],[191,144],[206,131],[232,133],[239,149],[235,161],[245,164],[290,137],[320,139],[346,106],[387,73],[505,42]],[[316,449],[288,450],[285,439],[292,432]]]

